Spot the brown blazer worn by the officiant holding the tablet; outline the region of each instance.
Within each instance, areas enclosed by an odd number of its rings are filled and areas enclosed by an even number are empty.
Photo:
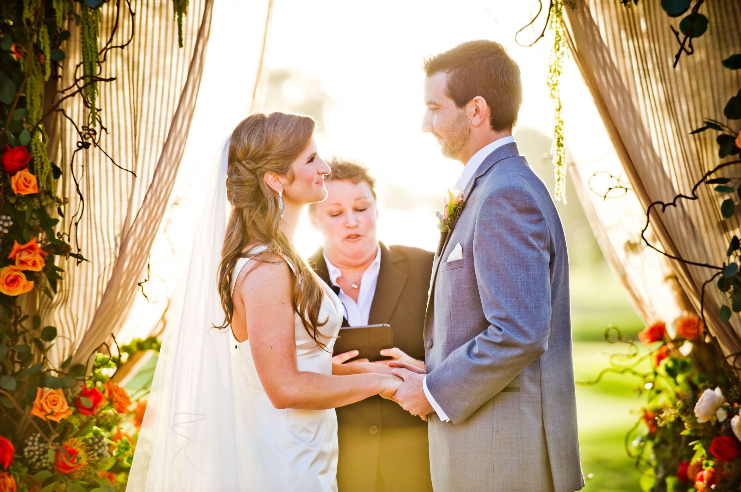
[[[393,345],[424,360],[422,331],[433,253],[380,245],[381,269],[368,324],[390,324]],[[309,264],[332,286],[322,251]],[[337,408],[337,422],[340,492],[432,491],[427,422],[378,396]]]

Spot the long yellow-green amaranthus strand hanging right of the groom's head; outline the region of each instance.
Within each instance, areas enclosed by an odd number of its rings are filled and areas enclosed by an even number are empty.
[[[566,148],[563,137],[563,118],[561,105],[561,90],[559,82],[563,72],[563,57],[566,54],[566,38],[563,27],[563,6],[568,4],[572,9],[574,0],[555,0],[551,4],[550,28],[554,32],[554,45],[551,48],[551,59],[548,67],[548,90],[554,101],[554,142],[551,146],[553,155],[556,200],[566,203]]]

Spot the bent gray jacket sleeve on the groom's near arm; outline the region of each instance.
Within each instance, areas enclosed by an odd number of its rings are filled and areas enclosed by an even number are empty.
[[[530,192],[511,183],[491,191],[473,233],[476,286],[489,326],[427,376],[428,390],[453,423],[470,417],[548,348],[549,257],[548,226]]]

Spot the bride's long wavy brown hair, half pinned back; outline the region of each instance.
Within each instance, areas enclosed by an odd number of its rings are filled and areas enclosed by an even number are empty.
[[[327,323],[318,319],[325,294],[308,264],[282,232],[278,198],[264,179],[272,171],[293,181],[290,164],[311,143],[315,127],[316,121],[309,116],[257,112],[242,120],[232,132],[227,171],[227,199],[232,210],[217,279],[225,322],[216,328],[229,326],[234,314],[231,280],[236,261],[240,257],[264,261],[263,258],[280,255],[293,266],[293,310],[316,344],[326,348],[319,340],[322,334],[317,329]],[[242,252],[247,245],[263,245],[268,249],[251,255]]]

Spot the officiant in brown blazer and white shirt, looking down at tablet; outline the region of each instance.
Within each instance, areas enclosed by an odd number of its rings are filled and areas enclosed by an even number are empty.
[[[338,159],[328,164],[328,198],[309,206],[310,222],[323,239],[309,264],[342,300],[343,326],[391,325],[395,348],[382,351],[379,360],[393,357],[424,368],[422,329],[433,253],[380,242],[375,181],[368,169]],[[333,362],[355,355],[335,354]],[[340,492],[432,491],[427,422],[377,396],[336,412]]]

